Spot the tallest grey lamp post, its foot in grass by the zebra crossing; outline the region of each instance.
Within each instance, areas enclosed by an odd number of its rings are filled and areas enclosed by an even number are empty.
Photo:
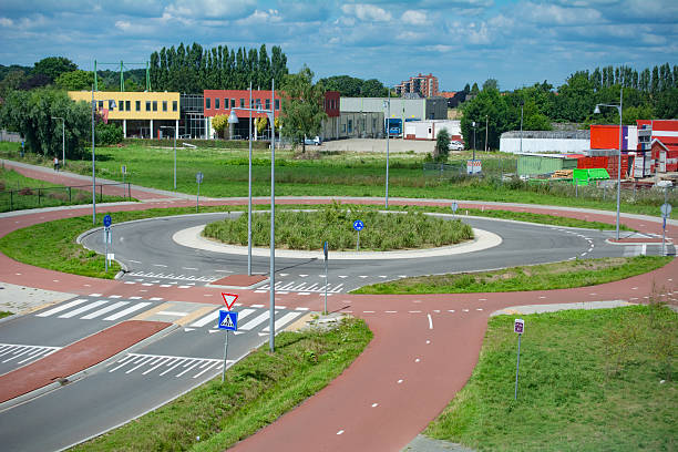
[[[268,116],[268,121],[271,126],[273,136],[270,140],[270,263],[269,263],[269,279],[270,279],[270,297],[269,297],[269,319],[268,319],[268,348],[271,352],[275,351],[276,348],[276,132],[275,132],[275,120],[276,120],[276,82],[275,80],[270,83],[270,110],[264,109],[244,109],[244,107],[232,107],[230,114],[228,115],[229,124],[237,124],[238,116],[235,111],[246,111],[246,112],[258,112],[266,113]],[[250,101],[251,106],[251,101]],[[250,122],[251,123],[251,122]],[[250,154],[251,156],[251,154]],[[250,173],[250,184],[251,184],[251,173]],[[249,215],[251,215],[251,188],[249,192]],[[249,242],[249,240],[248,240]],[[248,246],[249,247],[249,246]],[[251,248],[249,247],[250,251]],[[251,259],[251,257],[250,257]]]

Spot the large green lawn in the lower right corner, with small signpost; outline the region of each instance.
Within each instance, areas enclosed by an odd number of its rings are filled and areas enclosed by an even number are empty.
[[[499,316],[471,379],[424,434],[479,451],[676,450],[675,312],[655,304],[522,318],[517,401],[514,316]]]

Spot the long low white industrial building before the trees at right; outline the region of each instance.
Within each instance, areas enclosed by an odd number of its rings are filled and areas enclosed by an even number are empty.
[[[500,137],[500,152],[510,154],[577,154],[589,148],[590,131],[513,131]]]

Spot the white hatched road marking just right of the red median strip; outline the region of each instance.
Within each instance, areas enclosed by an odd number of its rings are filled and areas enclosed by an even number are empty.
[[[228,360],[226,366],[232,364]],[[172,357],[163,355],[127,353],[117,361],[106,364],[109,373],[141,376],[175,377],[196,379],[212,371],[217,372],[224,367],[224,360],[210,358]]]

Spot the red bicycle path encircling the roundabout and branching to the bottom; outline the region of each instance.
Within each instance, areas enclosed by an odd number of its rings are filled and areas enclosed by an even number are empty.
[[[322,204],[327,198],[277,198],[276,204]],[[359,198],[341,202],[356,203]],[[205,205],[243,204],[244,199],[222,199]],[[268,204],[266,199],[256,199]],[[364,199],[380,204],[379,199]],[[391,199],[392,205],[449,206],[448,201]],[[614,223],[614,213],[563,210],[546,206],[511,206],[482,202],[458,202],[460,208],[502,208]],[[134,205],[100,206],[100,212],[152,207],[193,206],[185,201],[151,202]],[[30,213],[0,219],[0,236],[20,227],[68,216],[88,215],[91,207]],[[631,218],[623,223],[644,233],[660,234],[658,218]],[[667,237],[676,239],[675,227]],[[670,233],[671,235],[669,235]],[[622,281],[576,289],[419,296],[335,295],[330,310],[342,310],[363,318],[373,340],[363,353],[328,387],[270,425],[235,445],[237,451],[392,451],[405,446],[433,420],[468,381],[477,361],[489,316],[518,305],[546,305],[595,300],[643,302],[653,290],[664,288],[665,299],[676,302],[678,263],[650,274]],[[208,287],[178,289],[157,286],[140,289],[119,280],[102,280],[35,268],[0,255],[0,280],[17,285],[79,295],[93,291],[107,295],[162,297],[165,300],[218,304],[219,290]],[[143,291],[143,292],[141,292]],[[268,294],[238,290],[238,301],[266,304]],[[280,295],[276,304],[321,310],[322,298]],[[451,312],[454,311],[454,312]],[[429,317],[430,316],[430,317]]]

